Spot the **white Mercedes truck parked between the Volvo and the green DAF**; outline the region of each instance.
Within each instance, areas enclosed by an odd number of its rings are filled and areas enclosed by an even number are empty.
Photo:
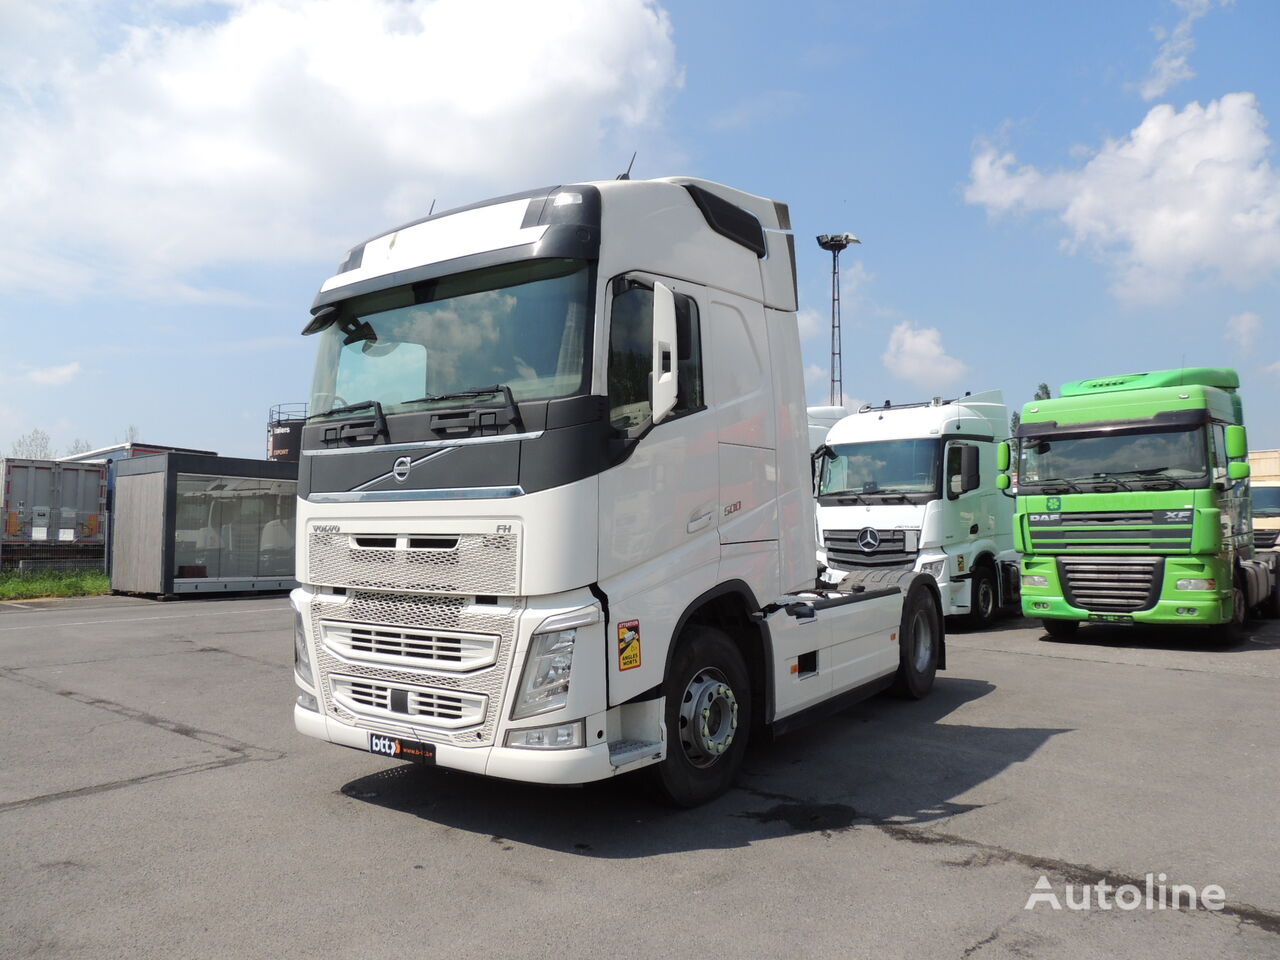
[[[946,616],[991,623],[1018,596],[1014,500],[996,488],[1007,434],[1000,390],[864,404],[840,420],[815,454],[823,579],[931,573]]]

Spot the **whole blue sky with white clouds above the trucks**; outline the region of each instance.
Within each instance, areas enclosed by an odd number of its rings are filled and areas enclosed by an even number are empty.
[[[780,10],[785,9],[785,14]],[[1280,447],[1280,5],[88,0],[0,13],[0,452],[262,456],[347,247],[544,183],[791,205],[810,402],[1235,366]]]

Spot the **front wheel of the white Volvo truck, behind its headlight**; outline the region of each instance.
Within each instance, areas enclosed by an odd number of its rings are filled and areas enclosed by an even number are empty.
[[[751,726],[751,686],[742,654],[714,627],[685,630],[662,684],[667,759],[650,785],[673,806],[698,806],[733,783]]]

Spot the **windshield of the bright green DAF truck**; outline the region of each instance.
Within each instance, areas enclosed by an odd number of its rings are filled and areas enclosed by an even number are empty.
[[[1121,488],[1146,483],[1203,486],[1208,483],[1204,428],[1124,434],[1027,436],[1019,443],[1018,483]]]

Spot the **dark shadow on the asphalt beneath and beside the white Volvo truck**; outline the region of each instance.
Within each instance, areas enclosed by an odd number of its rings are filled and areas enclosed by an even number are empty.
[[[635,776],[557,788],[411,764],[355,780],[342,794],[488,835],[507,849],[522,844],[604,859],[923,824],[975,809],[955,797],[1069,732],[938,723],[993,690],[984,681],[940,680],[925,700],[877,696],[773,742],[753,744],[737,785],[695,810],[658,805]]]

